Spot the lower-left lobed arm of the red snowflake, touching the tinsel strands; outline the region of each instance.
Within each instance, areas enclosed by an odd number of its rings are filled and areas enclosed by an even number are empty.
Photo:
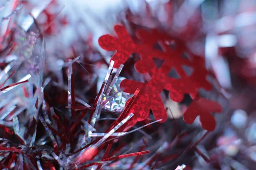
[[[134,113],[137,121],[143,121],[148,117],[149,110],[154,114],[156,120],[162,119],[160,122],[165,122],[167,119],[166,110],[164,108],[160,93],[166,84],[166,80],[161,72],[168,70],[167,67],[161,67],[152,75],[147,83],[137,82],[134,80],[125,79],[121,82],[120,87],[126,93],[134,94],[136,89],[141,89],[140,94],[131,106],[130,112]]]

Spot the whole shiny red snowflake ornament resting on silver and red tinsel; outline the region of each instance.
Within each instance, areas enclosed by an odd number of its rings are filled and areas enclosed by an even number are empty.
[[[169,91],[170,98],[175,102],[181,102],[184,94],[189,94],[193,99],[183,115],[186,123],[191,124],[197,116],[200,116],[202,127],[206,130],[214,130],[216,122],[210,112],[221,112],[221,106],[198,95],[200,88],[207,91],[212,88],[206,80],[208,71],[204,68],[204,59],[191,53],[189,53],[189,59],[183,57],[184,52],[189,52],[184,44],[156,29],[150,32],[137,31],[140,43],[135,43],[131,39],[125,27],[115,26],[114,30],[117,37],[104,35],[99,38],[99,45],[103,49],[116,51],[111,58],[115,61],[114,68],[124,64],[132,53],[138,53],[140,60],[135,63],[136,70],[151,76],[147,83],[125,79],[120,85],[124,92],[131,94],[134,94],[137,88],[140,89],[140,94],[130,108],[130,113],[134,113],[137,121],[145,120],[149,110],[153,112],[155,119],[162,119],[161,122],[166,121],[166,109],[160,97],[160,93],[165,89]],[[162,50],[154,48],[157,44]],[[159,68],[155,65],[154,58],[163,60]],[[192,68],[190,75],[184,71],[184,66]],[[172,69],[176,71],[179,78],[168,76]]]

